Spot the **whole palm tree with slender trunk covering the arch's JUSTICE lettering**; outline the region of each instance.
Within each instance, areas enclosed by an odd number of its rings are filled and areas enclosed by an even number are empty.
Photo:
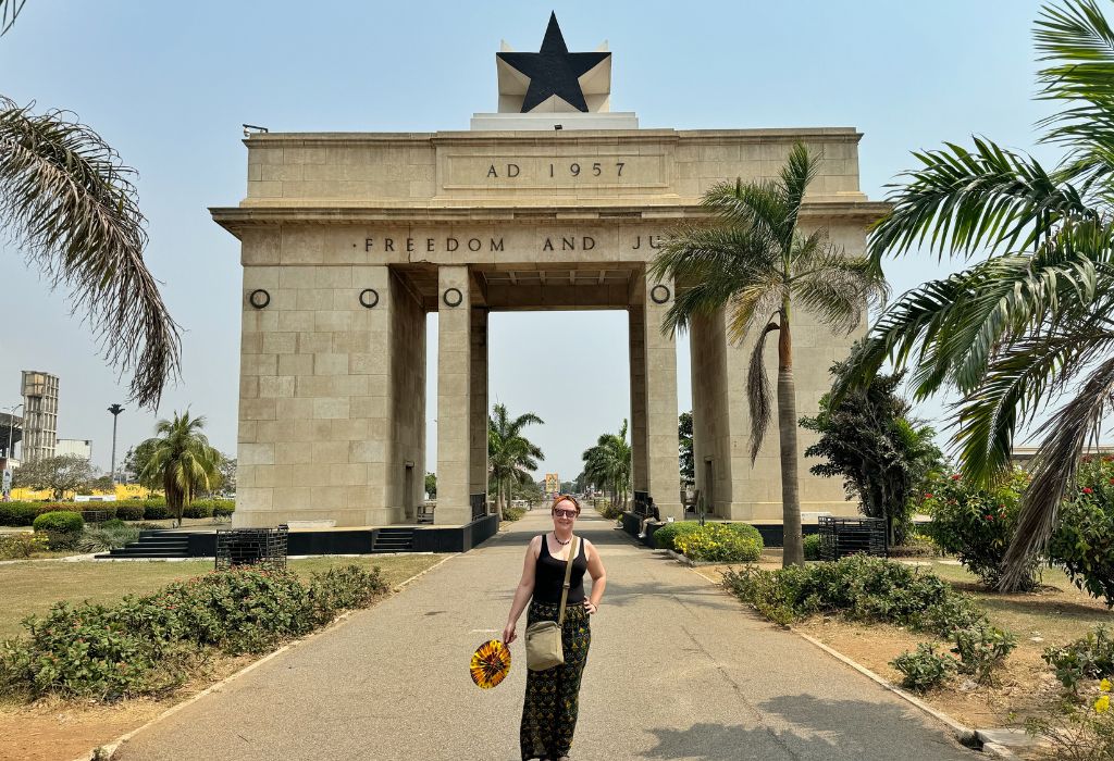
[[[885,295],[880,270],[864,257],[848,256],[821,228],[805,235],[798,217],[821,159],[793,146],[780,181],[723,182],[702,205],[711,225],[690,225],[663,245],[649,271],[672,277],[677,297],[663,332],[687,327],[695,315],[727,309],[729,337],[754,338],[746,398],[751,409],[751,462],[758,458],[772,414],[763,353],[766,336],[778,333],[778,428],[785,530],[784,564],[803,565],[801,502],[797,475],[797,388],[793,379],[792,319],[799,305],[834,330],[850,334],[868,299]]]

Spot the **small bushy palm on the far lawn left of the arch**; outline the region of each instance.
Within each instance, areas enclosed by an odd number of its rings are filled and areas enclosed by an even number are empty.
[[[198,492],[212,491],[221,481],[221,453],[209,446],[202,433],[205,417],[193,417],[189,411],[175,412],[173,421],[159,421],[155,426],[150,459],[140,481],[162,482],[166,504],[182,523],[183,508]],[[145,442],[146,444],[146,442]]]

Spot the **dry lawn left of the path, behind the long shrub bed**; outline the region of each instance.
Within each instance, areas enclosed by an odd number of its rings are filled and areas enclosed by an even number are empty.
[[[309,557],[290,561],[290,567],[303,576],[333,565],[355,563],[378,565],[387,582],[394,586],[420,573],[444,555],[391,555],[361,557]],[[46,613],[58,601],[89,600],[113,603],[126,594],[153,592],[178,579],[188,579],[213,570],[212,560],[160,562],[53,563],[30,561],[0,565],[0,640],[19,634],[19,624],[31,613]]]

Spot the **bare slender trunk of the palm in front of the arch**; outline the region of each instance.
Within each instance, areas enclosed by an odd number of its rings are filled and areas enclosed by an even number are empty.
[[[801,495],[797,477],[797,383],[793,381],[793,337],[789,302],[782,304],[778,332],[778,433],[781,439],[781,503],[784,548],[782,565],[804,565],[801,535]]]

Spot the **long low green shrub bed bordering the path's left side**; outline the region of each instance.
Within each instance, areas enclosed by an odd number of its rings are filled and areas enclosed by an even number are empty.
[[[175,582],[116,605],[56,604],[0,645],[0,692],[28,699],[120,698],[180,683],[189,659],[273,649],[385,591],[379,570],[237,569]]]

